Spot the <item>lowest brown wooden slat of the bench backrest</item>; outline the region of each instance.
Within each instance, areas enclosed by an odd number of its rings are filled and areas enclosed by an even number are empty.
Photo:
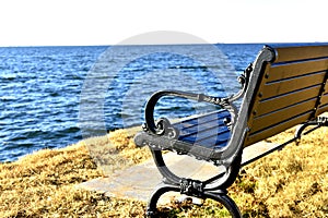
[[[259,141],[262,141],[262,140],[266,140],[272,135],[276,135],[282,131],[285,131],[294,125],[297,125],[300,123],[303,123],[305,121],[307,121],[311,116],[313,114],[313,111],[308,111],[304,114],[301,114],[300,117],[295,117],[291,120],[286,120],[282,123],[279,123],[272,128],[269,128],[269,129],[266,129],[261,132],[258,132],[256,134],[251,134],[251,135],[248,135],[247,138],[246,138],[246,142],[245,142],[245,146],[248,146],[248,145],[251,145],[254,143],[257,143]]]

